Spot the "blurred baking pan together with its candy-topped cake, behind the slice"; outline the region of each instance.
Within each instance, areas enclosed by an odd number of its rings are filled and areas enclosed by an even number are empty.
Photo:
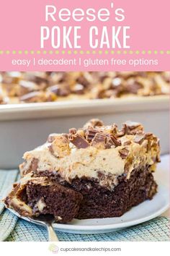
[[[170,72],[1,72],[0,168],[16,168],[53,132],[139,121],[169,152]]]

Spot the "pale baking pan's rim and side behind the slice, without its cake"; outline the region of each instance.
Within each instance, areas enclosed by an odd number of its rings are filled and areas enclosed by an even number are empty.
[[[63,101],[0,106],[0,168],[15,168],[22,155],[45,142],[52,132],[82,127],[91,118],[121,125],[141,122],[146,132],[161,140],[161,153],[169,152],[169,96],[106,100]]]

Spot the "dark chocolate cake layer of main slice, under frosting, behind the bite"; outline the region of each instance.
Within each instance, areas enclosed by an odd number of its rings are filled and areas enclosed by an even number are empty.
[[[83,195],[76,218],[109,218],[122,216],[126,211],[156,194],[157,184],[153,179],[151,166],[135,168],[130,179],[125,174],[118,177],[119,184],[112,190],[101,187],[95,179],[73,179],[71,184],[64,182],[55,172],[43,172],[53,182],[74,189]],[[102,179],[102,177],[101,177]]]

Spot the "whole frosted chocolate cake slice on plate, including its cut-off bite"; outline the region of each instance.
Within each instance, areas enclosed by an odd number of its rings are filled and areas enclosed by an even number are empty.
[[[24,153],[21,182],[6,206],[22,215],[51,213],[61,222],[121,216],[156,194],[159,154],[158,138],[141,124],[127,121],[118,129],[92,119]]]

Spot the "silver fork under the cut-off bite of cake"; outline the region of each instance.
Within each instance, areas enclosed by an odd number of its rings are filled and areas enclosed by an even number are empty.
[[[40,224],[42,226],[45,226],[45,228],[48,231],[48,241],[49,242],[58,242],[58,236],[55,234],[55,231],[53,229],[53,223],[55,222],[55,218],[53,215],[45,214],[38,217],[28,217],[28,219],[35,223]]]

